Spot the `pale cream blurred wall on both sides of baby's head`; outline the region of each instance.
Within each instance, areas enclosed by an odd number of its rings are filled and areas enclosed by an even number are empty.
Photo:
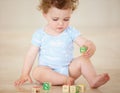
[[[0,28],[36,28],[45,20],[39,0],[0,0]],[[79,27],[120,27],[120,0],[80,0],[72,24]]]

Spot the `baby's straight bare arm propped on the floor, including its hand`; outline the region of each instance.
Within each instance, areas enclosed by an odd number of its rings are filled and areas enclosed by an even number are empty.
[[[15,86],[22,85],[26,81],[32,82],[32,79],[30,77],[30,71],[31,71],[32,65],[35,61],[38,51],[39,51],[38,47],[36,47],[34,45],[32,45],[30,47],[30,49],[25,57],[22,74],[21,74],[20,78],[17,81],[15,81]]]

